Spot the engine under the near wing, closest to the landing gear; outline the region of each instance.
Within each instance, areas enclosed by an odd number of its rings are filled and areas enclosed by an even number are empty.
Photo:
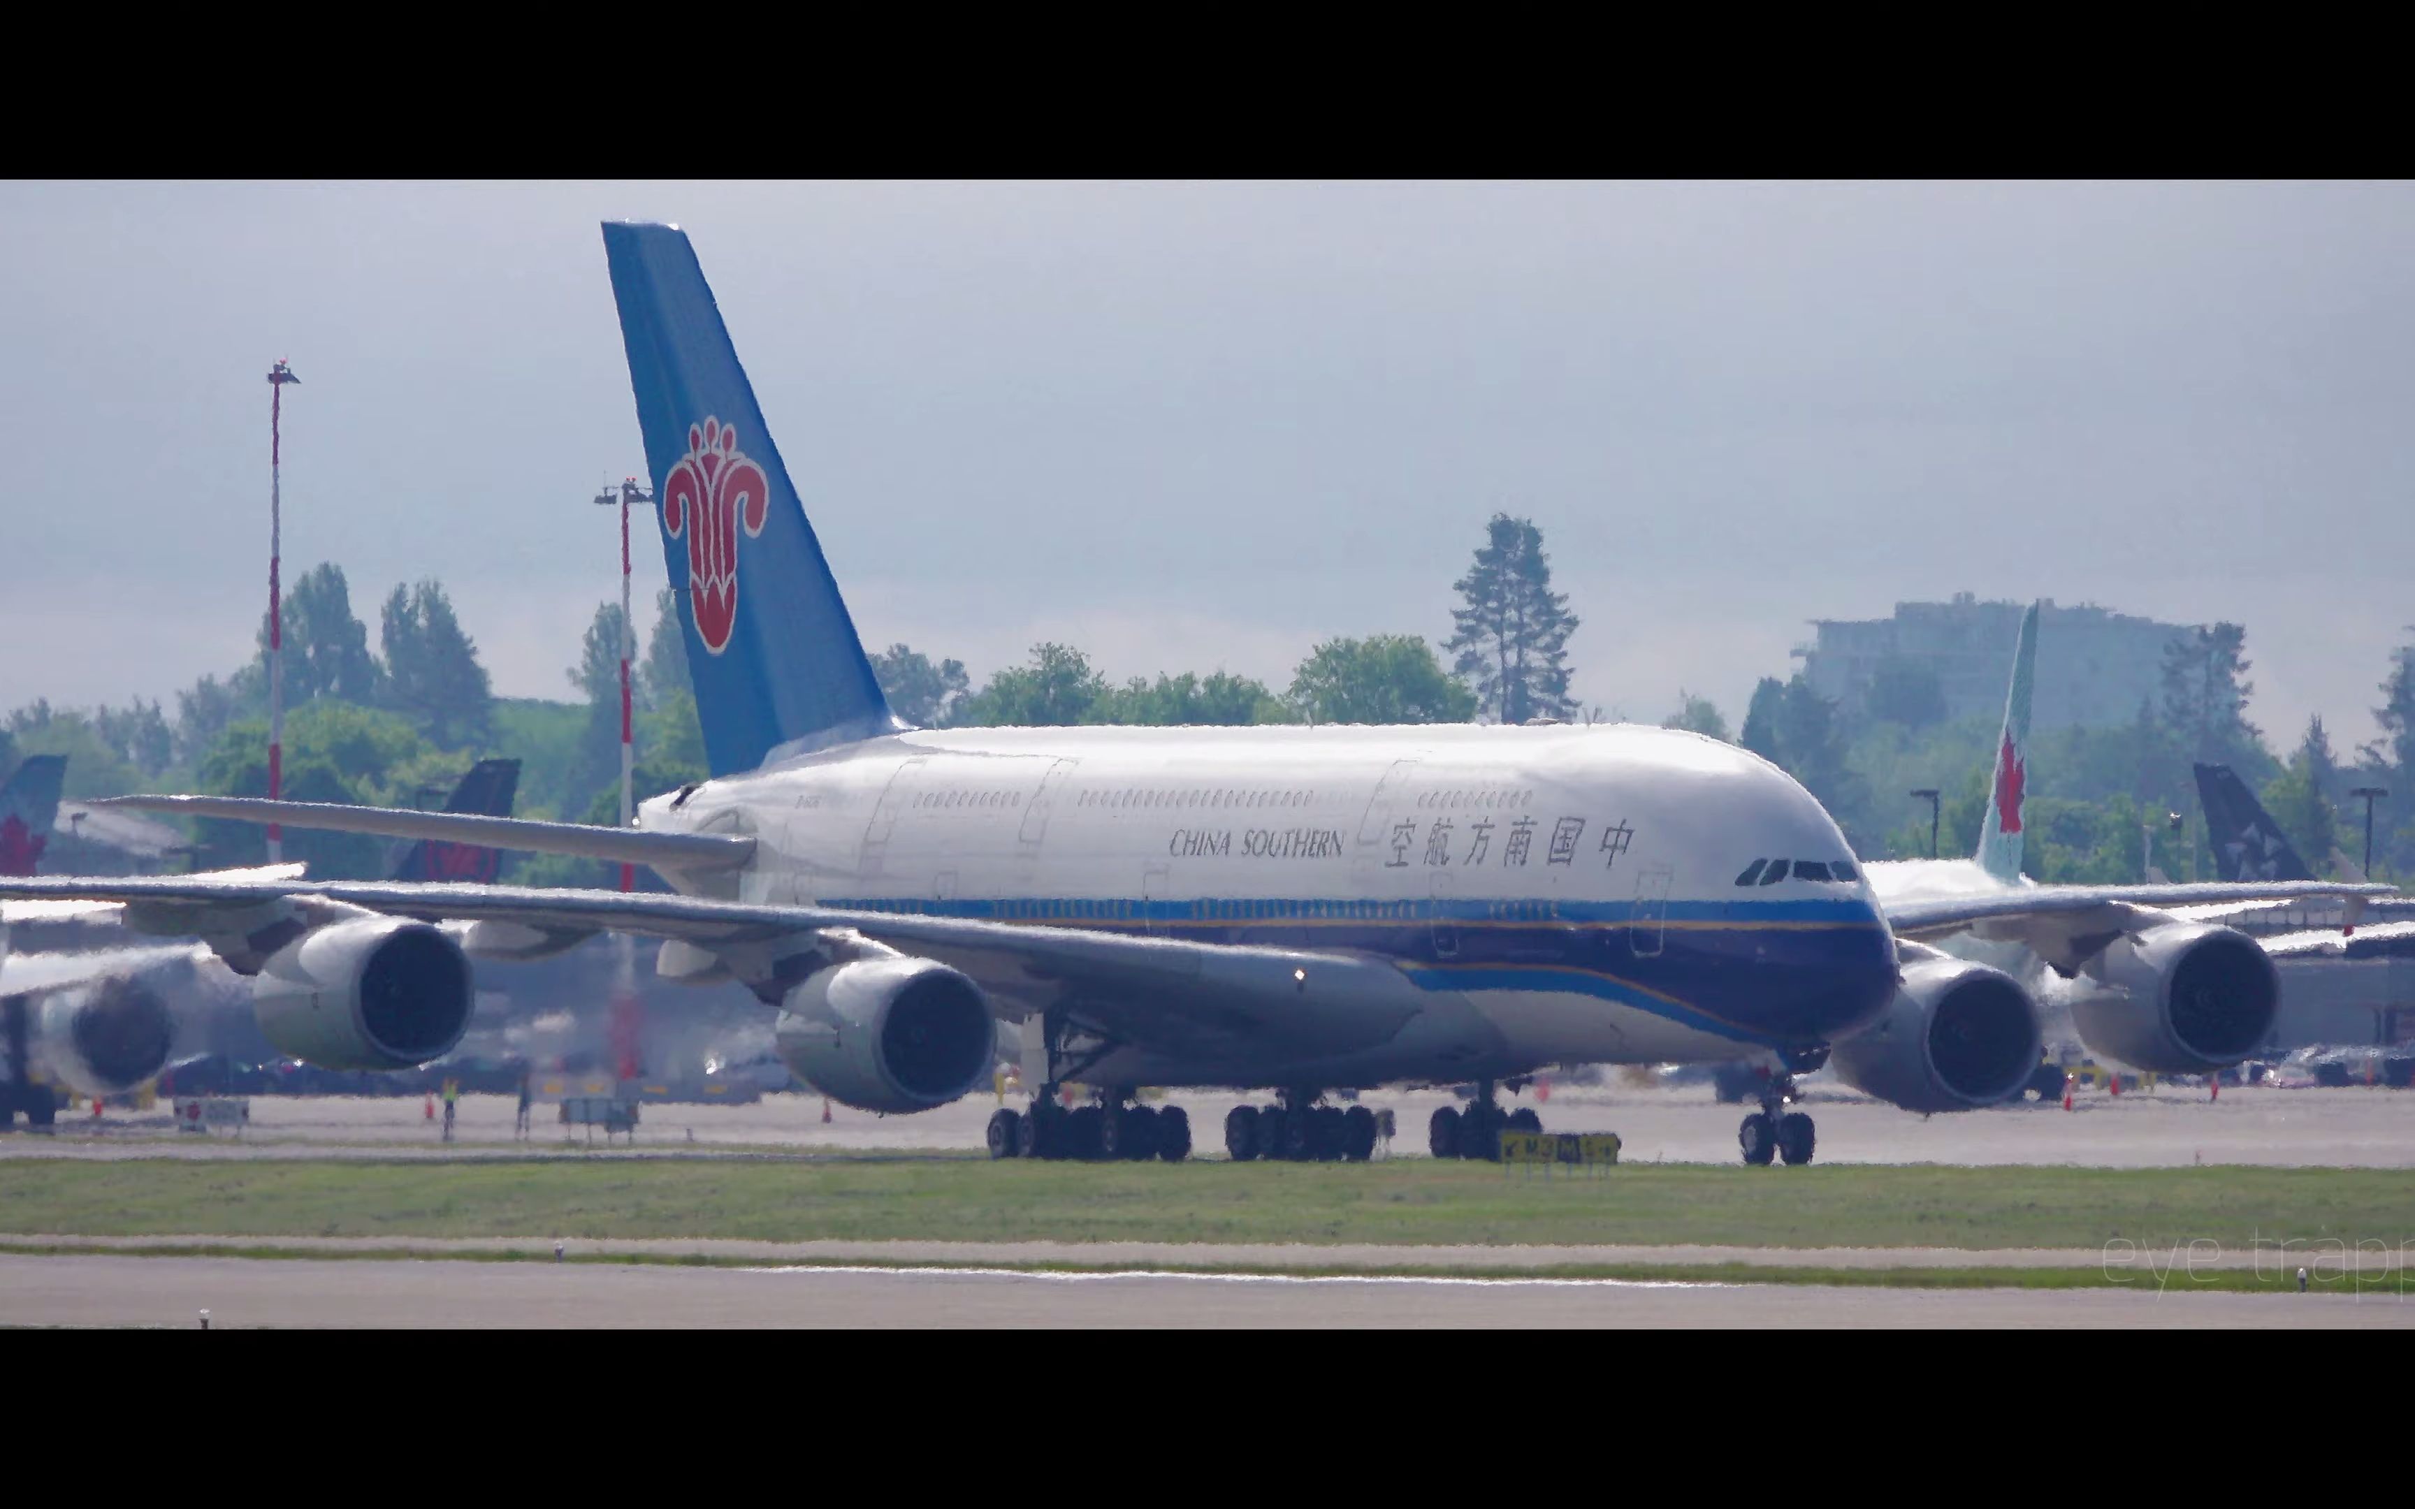
[[[997,1058],[980,987],[932,959],[857,959],[780,1002],[780,1062],[857,1111],[930,1111],[971,1091]]]

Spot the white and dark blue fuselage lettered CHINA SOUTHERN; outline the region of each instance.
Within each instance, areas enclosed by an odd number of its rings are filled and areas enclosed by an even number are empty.
[[[1860,872],[1799,879],[1852,862],[1818,802],[1652,727],[910,732],[638,823],[751,835],[737,901],[1374,954],[1529,1067],[1821,1043],[1893,983]]]

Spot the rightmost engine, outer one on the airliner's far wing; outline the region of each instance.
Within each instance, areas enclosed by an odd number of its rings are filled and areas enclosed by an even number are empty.
[[[2118,937],[2084,971],[2106,990],[2072,997],[2089,1050],[2154,1074],[2207,1074],[2273,1033],[2280,973],[2256,939],[2215,922]]]

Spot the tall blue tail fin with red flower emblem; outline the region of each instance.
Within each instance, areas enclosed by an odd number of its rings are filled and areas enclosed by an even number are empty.
[[[611,222],[604,256],[712,773],[903,727],[686,232]]]

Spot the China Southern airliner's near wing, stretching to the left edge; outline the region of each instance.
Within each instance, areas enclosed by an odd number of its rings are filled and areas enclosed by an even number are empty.
[[[1352,954],[650,891],[220,876],[0,879],[0,901],[17,898],[118,903],[128,908],[128,925],[155,934],[213,934],[220,932],[210,925],[213,913],[239,917],[278,901],[425,922],[507,922],[555,937],[633,932],[734,954],[799,932],[855,932],[961,968],[1000,1016],[1065,1007],[1125,1041],[1203,1053],[1217,1041],[1244,1038],[1294,1053],[1348,1053],[1389,1041],[1418,1012],[1418,987],[1401,971]]]

